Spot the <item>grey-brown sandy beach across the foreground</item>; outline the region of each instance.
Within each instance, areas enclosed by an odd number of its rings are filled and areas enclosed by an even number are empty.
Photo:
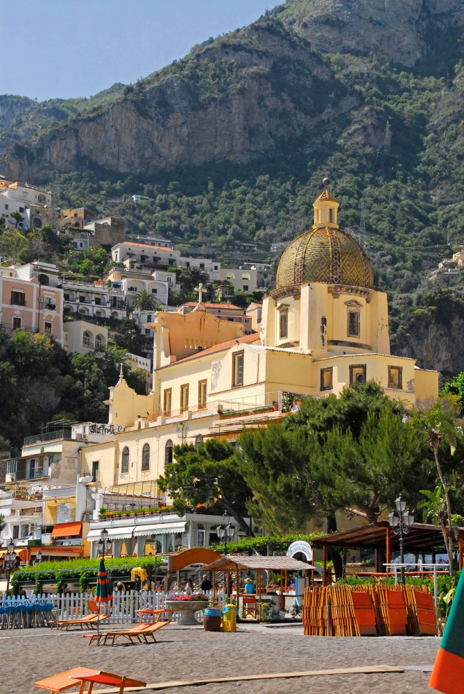
[[[85,632],[83,632],[85,633]],[[173,687],[171,694],[420,694],[431,692],[429,672],[439,638],[324,638],[304,636],[299,625],[239,625],[232,634],[172,623],[150,645],[87,647],[81,632],[46,629],[1,631],[0,694],[33,694],[34,682],[77,666],[132,675],[148,683],[366,665],[405,668],[402,673],[324,675]],[[74,691],[74,690],[71,690]],[[77,690],[76,690],[77,691]],[[98,691],[94,689],[94,691]]]

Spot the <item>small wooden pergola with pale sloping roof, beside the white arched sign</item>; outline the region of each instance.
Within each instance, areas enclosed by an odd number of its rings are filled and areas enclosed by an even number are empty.
[[[216,584],[215,575],[216,571],[223,571],[225,573],[231,573],[235,575],[235,585],[237,586],[237,609],[240,609],[240,591],[239,591],[239,575],[243,571],[256,572],[256,594],[258,598],[258,614],[261,614],[261,571],[279,571],[280,572],[280,605],[283,610],[285,607],[285,596],[284,596],[284,574],[288,571],[303,571],[304,572],[304,587],[306,588],[308,582],[308,572],[311,571],[313,576],[314,571],[320,572],[320,567],[313,566],[313,564],[306,564],[304,561],[298,561],[298,559],[293,559],[293,557],[276,557],[275,555],[269,557],[261,557],[261,555],[255,555],[248,557],[246,555],[225,555],[221,559],[216,559],[209,566],[204,566],[205,571],[213,572],[213,585]],[[214,595],[213,595],[214,598]]]

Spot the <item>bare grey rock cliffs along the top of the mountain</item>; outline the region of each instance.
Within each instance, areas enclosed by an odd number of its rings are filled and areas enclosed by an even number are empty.
[[[464,0],[291,0],[128,87],[110,105],[17,143],[0,169],[40,182],[57,169],[144,174],[246,162],[295,138],[311,151],[321,138],[338,137],[337,119],[359,105],[324,53],[373,51],[411,66],[427,54],[433,32],[463,25],[463,7]],[[11,120],[5,110],[3,121]],[[355,135],[376,142],[379,133],[374,123]]]

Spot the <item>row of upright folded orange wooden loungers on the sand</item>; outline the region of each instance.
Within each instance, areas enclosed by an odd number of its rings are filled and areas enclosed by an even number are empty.
[[[411,585],[309,587],[304,591],[303,626],[307,636],[420,636],[438,633],[429,589]]]

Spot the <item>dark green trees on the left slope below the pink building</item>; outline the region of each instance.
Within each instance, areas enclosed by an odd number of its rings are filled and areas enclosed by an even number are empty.
[[[8,339],[1,332],[0,437],[10,444],[12,455],[24,437],[40,433],[47,421],[107,422],[103,403],[118,380],[121,363],[128,384],[139,393],[146,392],[144,374],[130,371],[127,364],[128,346],[140,348],[130,343],[128,329],[123,323],[114,342],[87,355],[65,352],[47,334],[18,330]],[[139,330],[137,339],[141,339]]]

